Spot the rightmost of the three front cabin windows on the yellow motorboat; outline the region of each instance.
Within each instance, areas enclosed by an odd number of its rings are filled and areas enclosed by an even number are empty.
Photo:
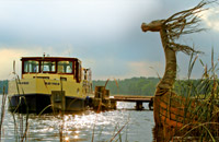
[[[59,61],[58,62],[58,73],[72,73],[72,62],[71,61]]]

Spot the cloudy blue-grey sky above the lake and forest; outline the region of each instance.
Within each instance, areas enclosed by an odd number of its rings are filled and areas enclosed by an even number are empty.
[[[165,61],[159,33],[142,33],[141,23],[168,19],[198,0],[0,0],[0,80],[11,78],[21,57],[79,58],[93,80],[162,76]],[[205,64],[219,57],[219,7],[201,13],[207,31],[183,36],[183,44],[204,51]],[[177,52],[177,78],[187,75],[189,57]],[[210,66],[210,64],[209,64]],[[208,67],[209,67],[208,66]],[[200,78],[199,61],[193,78]]]

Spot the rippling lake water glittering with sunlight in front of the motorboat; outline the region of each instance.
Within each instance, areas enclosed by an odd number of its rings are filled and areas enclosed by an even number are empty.
[[[143,104],[146,109],[141,111],[135,110],[135,105],[117,103],[117,110],[100,114],[88,110],[81,114],[66,114],[62,117],[32,114],[28,118],[27,141],[59,142],[62,138],[65,142],[92,142],[92,139],[93,142],[108,142],[125,126],[114,141],[152,142],[153,111],[148,109],[147,103]],[[15,122],[7,108],[1,137],[3,142],[19,141],[19,135],[25,131],[25,115],[16,114],[14,117]]]

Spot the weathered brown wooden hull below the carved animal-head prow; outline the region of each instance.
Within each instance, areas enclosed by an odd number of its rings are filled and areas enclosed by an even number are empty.
[[[197,105],[195,99],[186,99],[169,91],[155,95],[153,114],[157,141],[169,142],[174,135],[182,137],[193,129],[192,123],[197,122],[197,116],[193,113]]]

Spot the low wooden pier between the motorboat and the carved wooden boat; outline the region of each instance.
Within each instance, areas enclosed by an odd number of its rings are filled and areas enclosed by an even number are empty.
[[[143,103],[149,103],[149,109],[152,110],[153,106],[153,96],[136,96],[136,95],[115,95],[111,97],[111,102],[135,102],[136,103],[136,109],[142,110]]]

